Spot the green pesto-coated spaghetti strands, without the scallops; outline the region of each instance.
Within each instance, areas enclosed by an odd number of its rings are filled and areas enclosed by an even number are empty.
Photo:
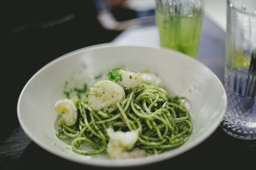
[[[109,127],[122,132],[137,130],[134,148],[149,154],[163,153],[188,141],[193,128],[185,97],[170,97],[163,88],[145,82],[125,90],[125,96],[111,113],[93,110],[88,97],[73,98],[76,124],[61,124],[56,136],[72,138],[72,150],[83,155],[107,152]],[[82,143],[89,143],[93,150],[83,150]]]

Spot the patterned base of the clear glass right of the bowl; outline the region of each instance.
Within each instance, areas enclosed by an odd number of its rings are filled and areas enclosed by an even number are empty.
[[[235,138],[256,139],[256,123],[241,121],[239,119],[230,121],[228,118],[224,118],[220,127],[224,132]]]

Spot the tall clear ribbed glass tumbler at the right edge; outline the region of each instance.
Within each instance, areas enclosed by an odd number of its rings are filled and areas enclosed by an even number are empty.
[[[256,139],[256,1],[227,0],[225,90],[228,106],[221,128]]]

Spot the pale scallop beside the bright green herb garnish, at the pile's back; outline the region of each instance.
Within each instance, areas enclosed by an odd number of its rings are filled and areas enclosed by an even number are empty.
[[[116,81],[118,85],[124,87],[125,90],[133,89],[141,85],[142,76],[140,73],[120,69],[118,73],[122,76],[122,81]]]

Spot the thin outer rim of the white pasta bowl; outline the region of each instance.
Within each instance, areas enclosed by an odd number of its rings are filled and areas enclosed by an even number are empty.
[[[31,81],[33,81],[33,79],[38,74],[40,74],[42,71],[44,71],[44,69],[51,66],[55,62],[58,62],[59,60],[65,59],[66,57],[70,57],[71,55],[74,55],[76,53],[86,52],[86,51],[90,51],[90,50],[96,50],[96,49],[99,49],[99,48],[109,48],[109,47],[154,48],[156,50],[168,50],[168,51],[172,51],[173,53],[183,55],[184,57],[188,57],[191,60],[195,60],[195,62],[198,62],[198,64],[200,64],[202,67],[205,67],[205,69],[207,69],[212,74],[212,76],[214,76],[216,78],[218,83],[220,83],[220,85],[221,85],[221,90],[223,91],[223,94],[224,94],[224,104],[225,104],[224,105],[225,109],[222,111],[221,117],[219,117],[219,119],[216,120],[214,125],[211,126],[211,129],[208,129],[208,131],[206,131],[204,134],[202,134],[198,138],[193,139],[193,142],[188,143],[187,145],[184,145],[182,147],[176,148],[175,150],[171,150],[171,151],[168,151],[168,152],[161,153],[157,156],[154,156],[154,155],[151,156],[150,155],[148,157],[137,158],[137,159],[125,159],[125,160],[90,159],[91,157],[89,158],[89,157],[86,157],[86,156],[79,157],[77,159],[77,158],[74,158],[74,157],[70,157],[70,155],[68,155],[68,154],[63,154],[64,152],[60,152],[59,150],[52,149],[51,146],[46,145],[44,142],[40,141],[40,139],[36,138],[36,136],[33,136],[33,134],[29,131],[29,129],[24,124],[24,122],[22,120],[22,117],[21,117],[22,113],[20,112],[20,102],[21,102],[22,96],[24,95],[24,91],[28,87],[29,83]],[[162,47],[159,47],[159,46],[134,45],[134,43],[133,43],[133,45],[130,45],[129,43],[126,44],[126,45],[125,44],[118,44],[118,43],[103,43],[103,44],[99,44],[99,45],[86,46],[86,47],[74,50],[72,52],[68,52],[64,55],[61,55],[60,57],[57,57],[56,59],[52,60],[51,62],[49,62],[48,64],[43,66],[41,69],[36,71],[35,74],[33,74],[33,76],[28,80],[26,85],[24,85],[22,91],[20,92],[19,99],[17,101],[17,116],[18,116],[20,126],[24,130],[25,134],[28,135],[28,137],[31,139],[31,141],[34,141],[36,143],[36,145],[40,146],[44,150],[47,150],[47,152],[50,152],[53,155],[56,155],[56,156],[61,157],[63,159],[67,159],[67,160],[70,160],[72,162],[76,162],[76,163],[79,163],[79,164],[87,164],[87,165],[90,165],[90,166],[98,166],[98,167],[143,166],[143,165],[146,165],[146,164],[153,164],[153,163],[156,163],[156,162],[161,162],[161,161],[166,160],[166,159],[171,159],[171,158],[173,158],[177,155],[180,155],[184,152],[187,152],[188,150],[191,150],[191,148],[194,148],[195,146],[197,146],[200,143],[202,143],[203,141],[205,141],[205,139],[209,138],[209,136],[211,136],[211,134],[214,131],[216,131],[216,129],[220,125],[221,120],[223,119],[223,117],[225,115],[226,109],[227,109],[227,94],[225,93],[225,89],[224,89],[220,79],[216,76],[216,74],[214,74],[211,71],[211,69],[209,69],[209,67],[202,64],[202,62],[199,62],[198,60],[193,59],[193,58],[189,57],[188,55],[185,55],[184,53],[176,52],[176,51],[169,50],[169,49],[166,49],[166,48],[162,48]]]

